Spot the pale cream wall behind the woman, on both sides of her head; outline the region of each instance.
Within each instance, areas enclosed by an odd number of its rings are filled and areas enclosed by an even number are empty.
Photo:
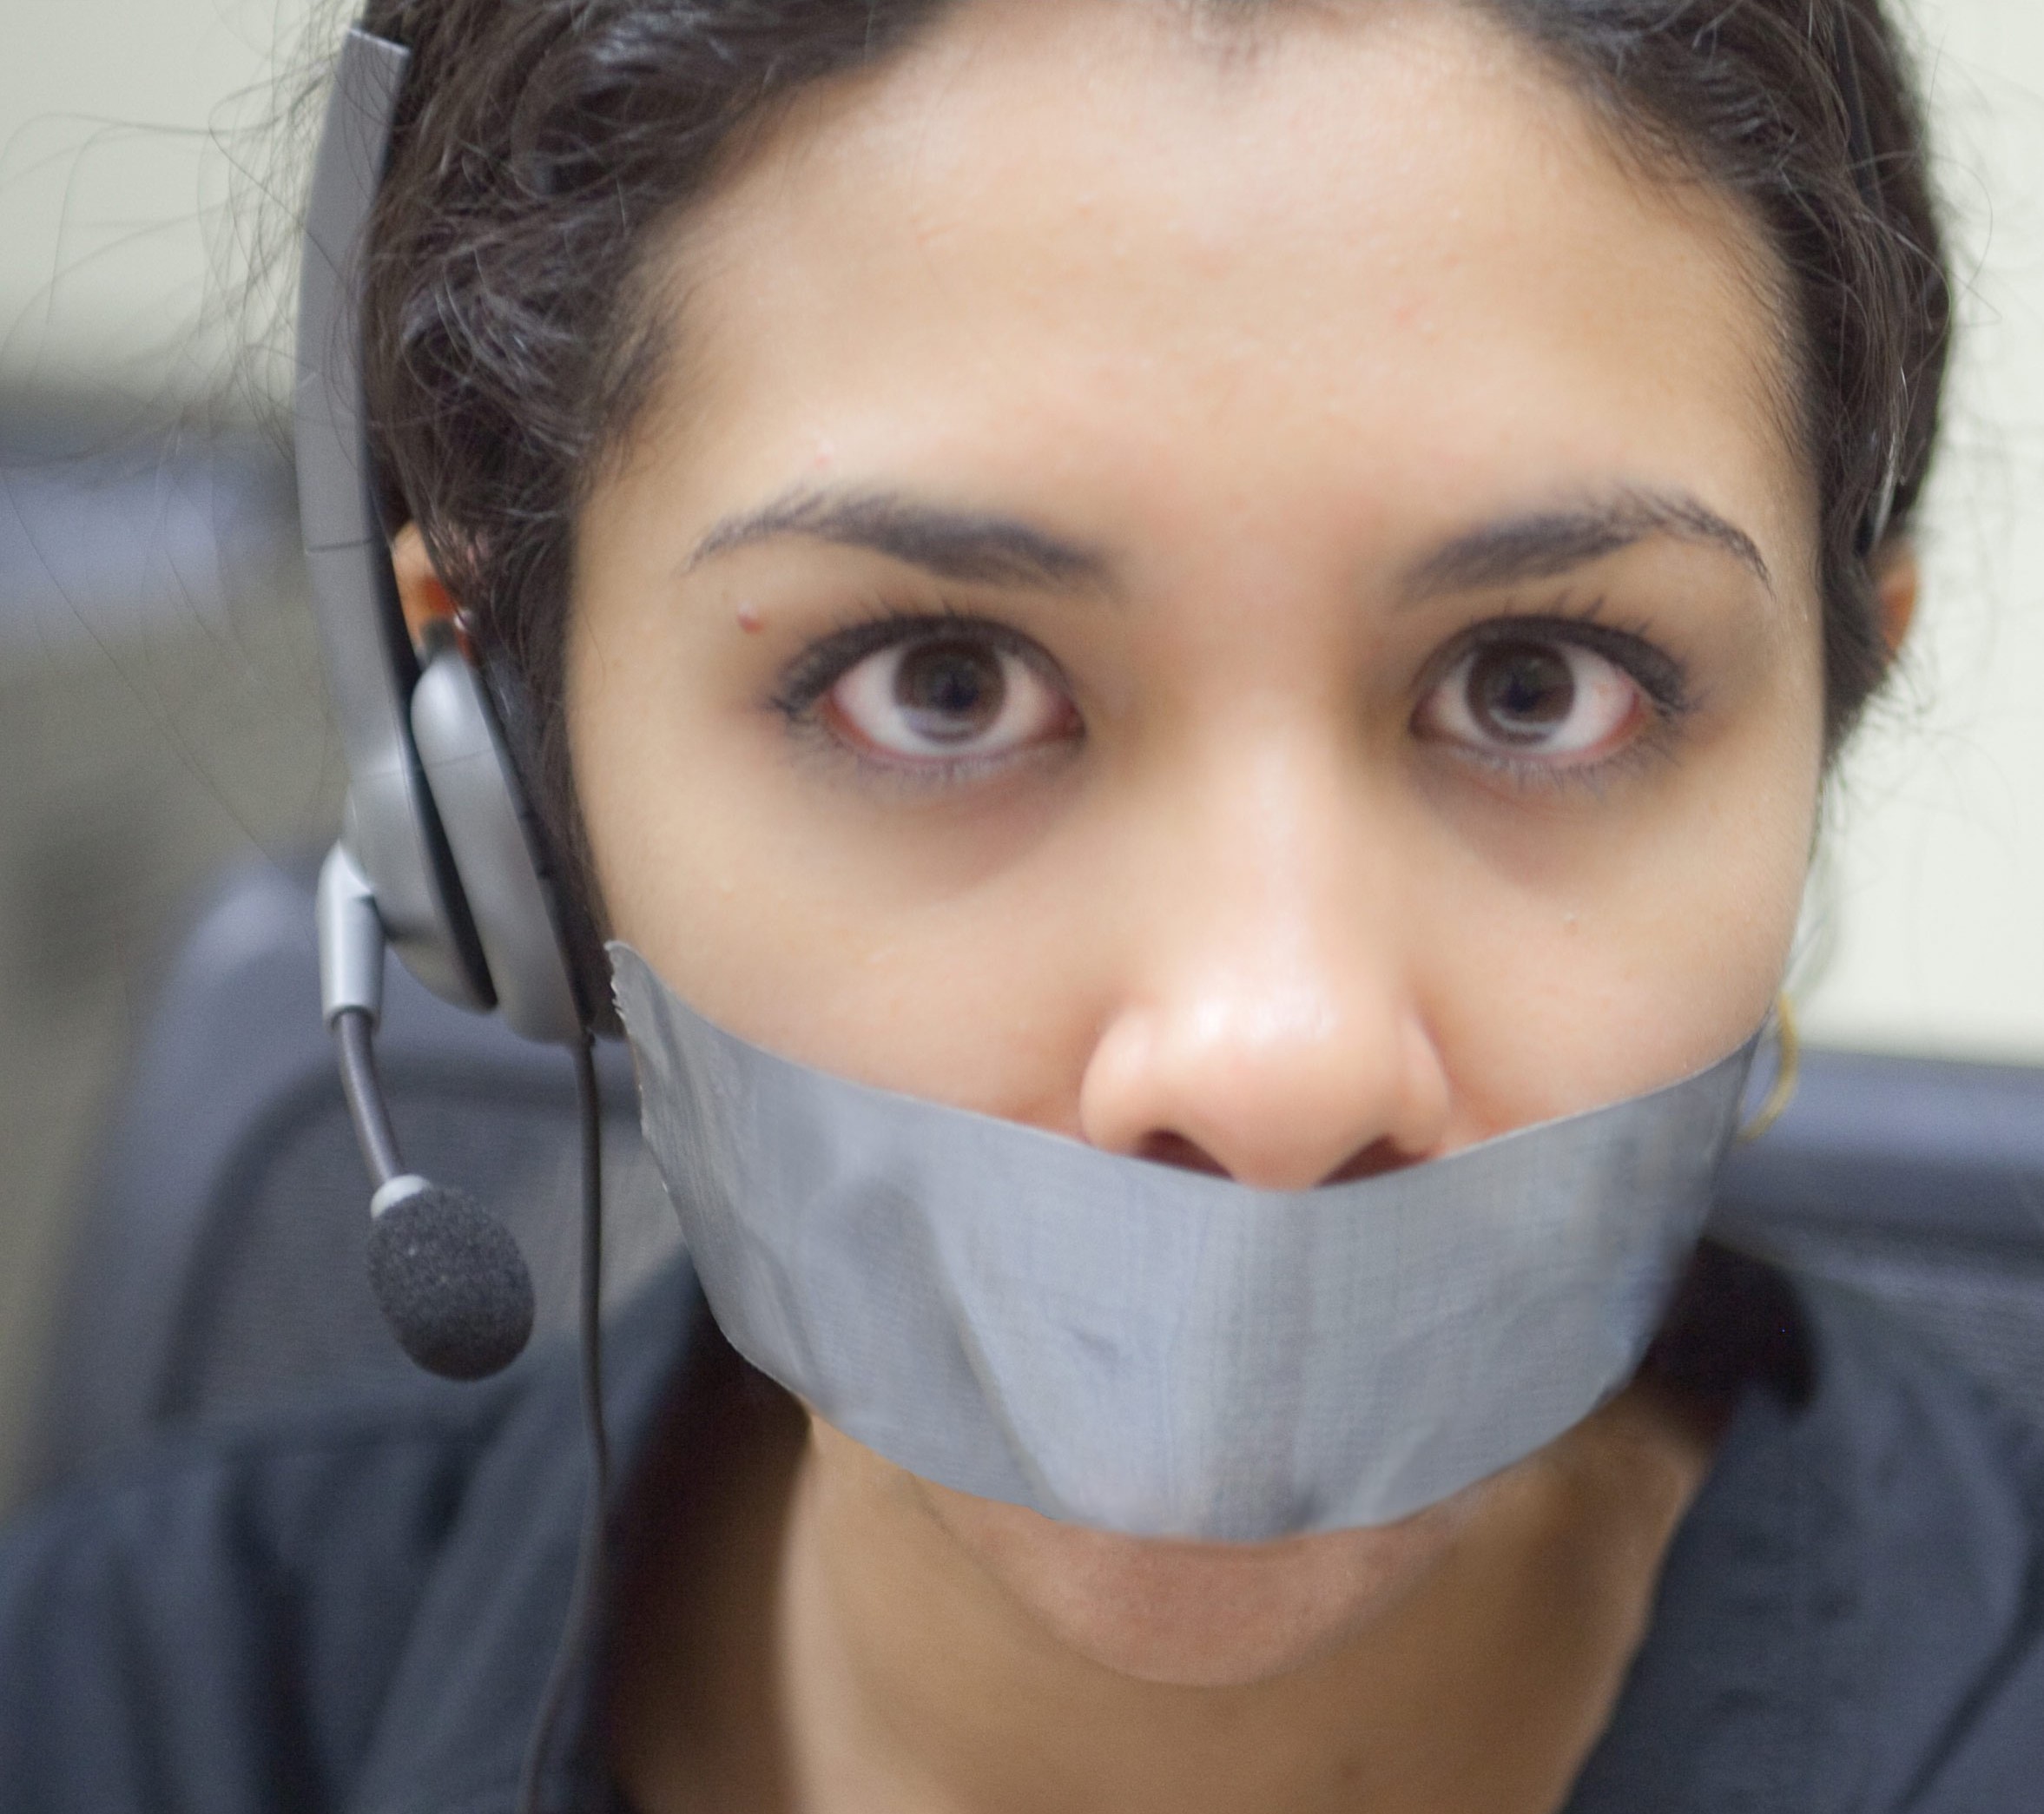
[[[0,391],[213,382],[235,172],[321,0],[0,4]],[[1921,634],[1840,777],[1799,992],[1825,1041],[2044,1063],[2044,6],[1911,14],[1966,342]]]

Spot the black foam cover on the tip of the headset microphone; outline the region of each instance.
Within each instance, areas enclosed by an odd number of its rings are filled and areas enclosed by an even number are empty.
[[[531,1335],[531,1272],[511,1231],[439,1184],[370,1223],[370,1290],[399,1346],[442,1378],[486,1378]]]

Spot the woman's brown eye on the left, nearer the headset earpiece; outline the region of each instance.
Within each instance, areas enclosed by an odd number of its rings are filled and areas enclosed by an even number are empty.
[[[824,708],[852,742],[905,763],[1006,757],[1077,726],[1049,675],[1018,650],[969,632],[867,654],[832,681]]]

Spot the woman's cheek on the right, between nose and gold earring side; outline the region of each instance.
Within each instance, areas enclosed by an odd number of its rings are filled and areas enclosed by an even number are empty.
[[[1459,836],[1425,906],[1427,1023],[1461,1139],[1731,1051],[1786,969],[1821,789],[1815,656],[1582,836]]]

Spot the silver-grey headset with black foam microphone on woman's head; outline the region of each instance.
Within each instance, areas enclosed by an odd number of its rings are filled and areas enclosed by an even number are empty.
[[[576,1053],[585,1182],[599,1164],[593,1016],[503,722],[454,638],[429,642],[421,665],[376,507],[360,262],[409,63],[405,47],[347,33],[313,164],[298,278],[298,511],[347,765],[345,828],[319,875],[319,982],[374,1182],[376,1301],[413,1360],[472,1380],[525,1348],[531,1274],[503,1223],[403,1164],[374,1055],[384,949],[444,1000],[495,1008],[527,1039]],[[585,1203],[585,1213],[599,1223],[585,1225],[587,1274],[601,1219],[597,1205]]]

